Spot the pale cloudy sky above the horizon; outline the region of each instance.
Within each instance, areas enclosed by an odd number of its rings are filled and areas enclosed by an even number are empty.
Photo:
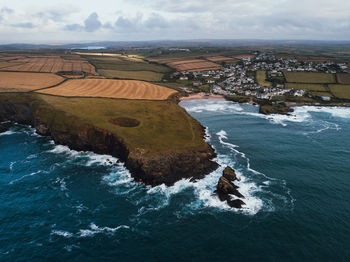
[[[349,0],[0,0],[0,43],[350,40]]]

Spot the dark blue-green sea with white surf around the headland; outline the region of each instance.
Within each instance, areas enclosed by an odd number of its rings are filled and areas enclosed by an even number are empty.
[[[118,159],[0,134],[0,261],[350,261],[350,108],[180,104],[221,167],[149,187]],[[214,193],[237,171],[243,209]]]

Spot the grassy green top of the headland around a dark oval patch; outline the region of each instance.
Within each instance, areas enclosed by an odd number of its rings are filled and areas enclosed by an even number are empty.
[[[76,116],[116,134],[131,150],[139,148],[151,153],[184,152],[189,149],[205,148],[199,123],[172,101],[63,98],[49,95],[39,95],[39,97],[67,115]],[[89,113],[86,114],[86,112]],[[140,125],[130,128],[110,122],[111,119],[125,117],[135,119],[140,122]],[[46,119],[46,121],[51,120]],[[64,128],[69,128],[66,123]]]

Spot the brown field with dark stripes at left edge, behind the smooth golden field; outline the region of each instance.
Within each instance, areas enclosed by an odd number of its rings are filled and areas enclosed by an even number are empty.
[[[60,71],[81,71],[95,73],[95,68],[79,56],[5,56],[0,57],[0,70],[57,73]]]

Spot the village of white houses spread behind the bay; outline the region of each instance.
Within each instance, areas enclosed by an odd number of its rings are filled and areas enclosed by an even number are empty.
[[[258,79],[263,71],[265,79]],[[277,96],[304,96],[307,90],[286,87],[285,72],[320,72],[328,74],[349,73],[345,63],[332,61],[298,61],[296,58],[277,58],[273,54],[254,52],[251,56],[242,56],[236,63],[223,63],[223,69],[176,72],[173,77],[180,81],[191,81],[191,87],[182,87],[187,93],[196,90],[207,94],[250,96],[259,99],[271,99]],[[208,88],[203,89],[202,86]],[[328,98],[324,98],[327,100]]]

